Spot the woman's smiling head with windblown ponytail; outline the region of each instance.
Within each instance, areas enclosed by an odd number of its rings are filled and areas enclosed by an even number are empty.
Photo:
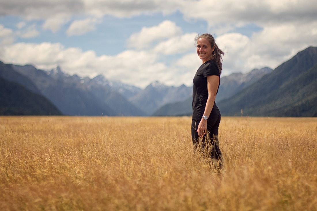
[[[219,69],[219,74],[221,74],[221,56],[224,55],[224,53],[218,48],[215,38],[212,35],[205,33],[202,35],[197,35],[195,37],[195,43],[197,47],[197,54],[199,58],[203,60],[203,63],[208,60],[215,61]]]

